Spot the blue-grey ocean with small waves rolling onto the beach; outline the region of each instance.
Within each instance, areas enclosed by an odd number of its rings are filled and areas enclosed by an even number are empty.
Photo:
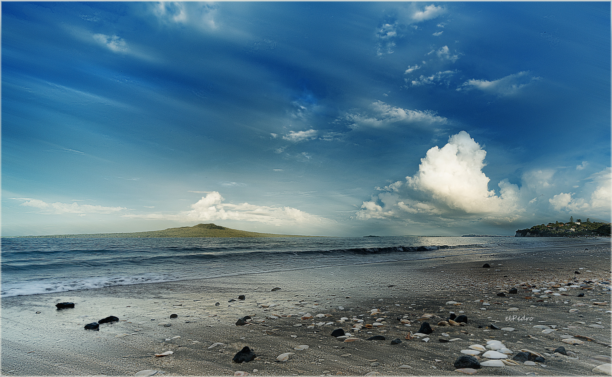
[[[577,244],[587,240],[577,239]],[[2,238],[0,297],[491,254],[567,238]]]

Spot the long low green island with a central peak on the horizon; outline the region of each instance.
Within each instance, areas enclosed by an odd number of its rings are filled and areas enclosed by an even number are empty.
[[[259,237],[318,237],[272,233],[247,232],[246,230],[230,229],[215,224],[198,224],[193,227],[168,228],[152,232],[135,233],[94,233],[94,234],[62,234],[49,236],[20,236],[19,238],[160,238],[160,237],[216,237],[216,238],[259,238]]]

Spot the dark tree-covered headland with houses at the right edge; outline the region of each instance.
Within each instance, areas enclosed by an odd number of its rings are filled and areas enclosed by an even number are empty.
[[[609,222],[591,222],[590,219],[569,222],[549,222],[548,224],[534,225],[529,229],[517,230],[515,237],[594,237],[610,236]]]

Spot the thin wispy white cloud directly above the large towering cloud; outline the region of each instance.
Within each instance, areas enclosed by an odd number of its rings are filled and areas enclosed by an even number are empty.
[[[350,124],[349,127],[356,128],[387,128],[391,125],[409,125],[420,123],[425,125],[445,125],[448,119],[436,115],[430,110],[409,110],[391,106],[383,101],[375,101],[370,104],[368,111],[359,114],[346,114],[344,119]]]

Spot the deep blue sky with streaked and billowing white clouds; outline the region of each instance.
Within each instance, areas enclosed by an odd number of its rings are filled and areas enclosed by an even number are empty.
[[[610,2],[3,2],[2,235],[610,221]]]

